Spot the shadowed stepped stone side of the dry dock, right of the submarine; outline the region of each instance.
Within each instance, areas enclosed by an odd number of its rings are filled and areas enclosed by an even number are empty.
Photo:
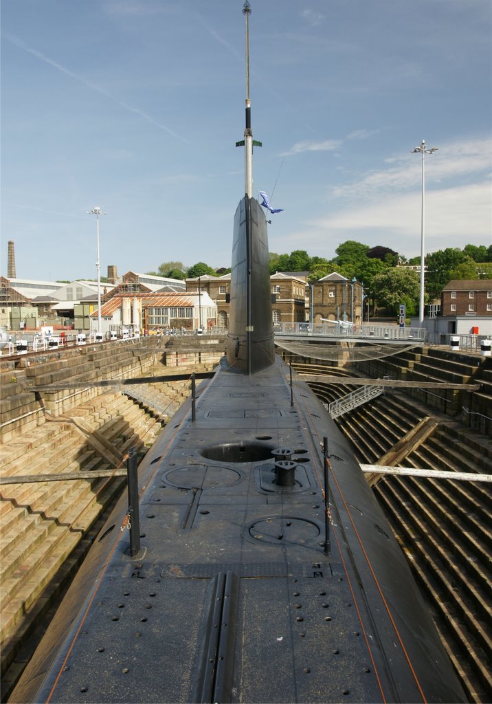
[[[386,393],[353,408],[338,423],[356,458],[372,465],[491,474],[491,435],[478,432],[485,427],[484,417],[485,423],[490,422],[486,420],[492,408],[488,362],[448,359],[441,351],[427,354],[427,350],[401,357],[371,363],[371,375],[391,373],[393,378],[454,383],[480,379],[481,390],[459,391],[456,396],[412,389],[408,395]],[[368,366],[365,363],[365,376]],[[310,386],[324,403],[336,401],[348,388],[320,382]],[[481,427],[472,429],[461,422],[463,402],[474,409]],[[376,474],[372,483],[469,700],[492,701],[490,484]]]

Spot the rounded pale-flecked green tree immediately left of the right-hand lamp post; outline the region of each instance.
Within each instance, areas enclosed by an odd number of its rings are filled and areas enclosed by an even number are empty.
[[[374,277],[374,291],[379,306],[390,315],[397,315],[400,303],[405,303],[408,315],[416,313],[420,294],[420,279],[412,269],[388,268]]]

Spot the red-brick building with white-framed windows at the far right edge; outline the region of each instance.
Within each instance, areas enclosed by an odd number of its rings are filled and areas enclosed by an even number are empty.
[[[492,317],[492,279],[452,279],[441,291],[441,315]]]

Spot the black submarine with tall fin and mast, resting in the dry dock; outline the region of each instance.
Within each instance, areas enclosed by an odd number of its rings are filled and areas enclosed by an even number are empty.
[[[275,356],[243,13],[227,353],[139,464],[11,703],[467,700],[346,439]]]

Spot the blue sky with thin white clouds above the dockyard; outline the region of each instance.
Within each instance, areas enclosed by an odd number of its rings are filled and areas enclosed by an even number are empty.
[[[1,274],[229,266],[243,0],[1,0]],[[491,244],[490,0],[251,0],[270,251]]]

